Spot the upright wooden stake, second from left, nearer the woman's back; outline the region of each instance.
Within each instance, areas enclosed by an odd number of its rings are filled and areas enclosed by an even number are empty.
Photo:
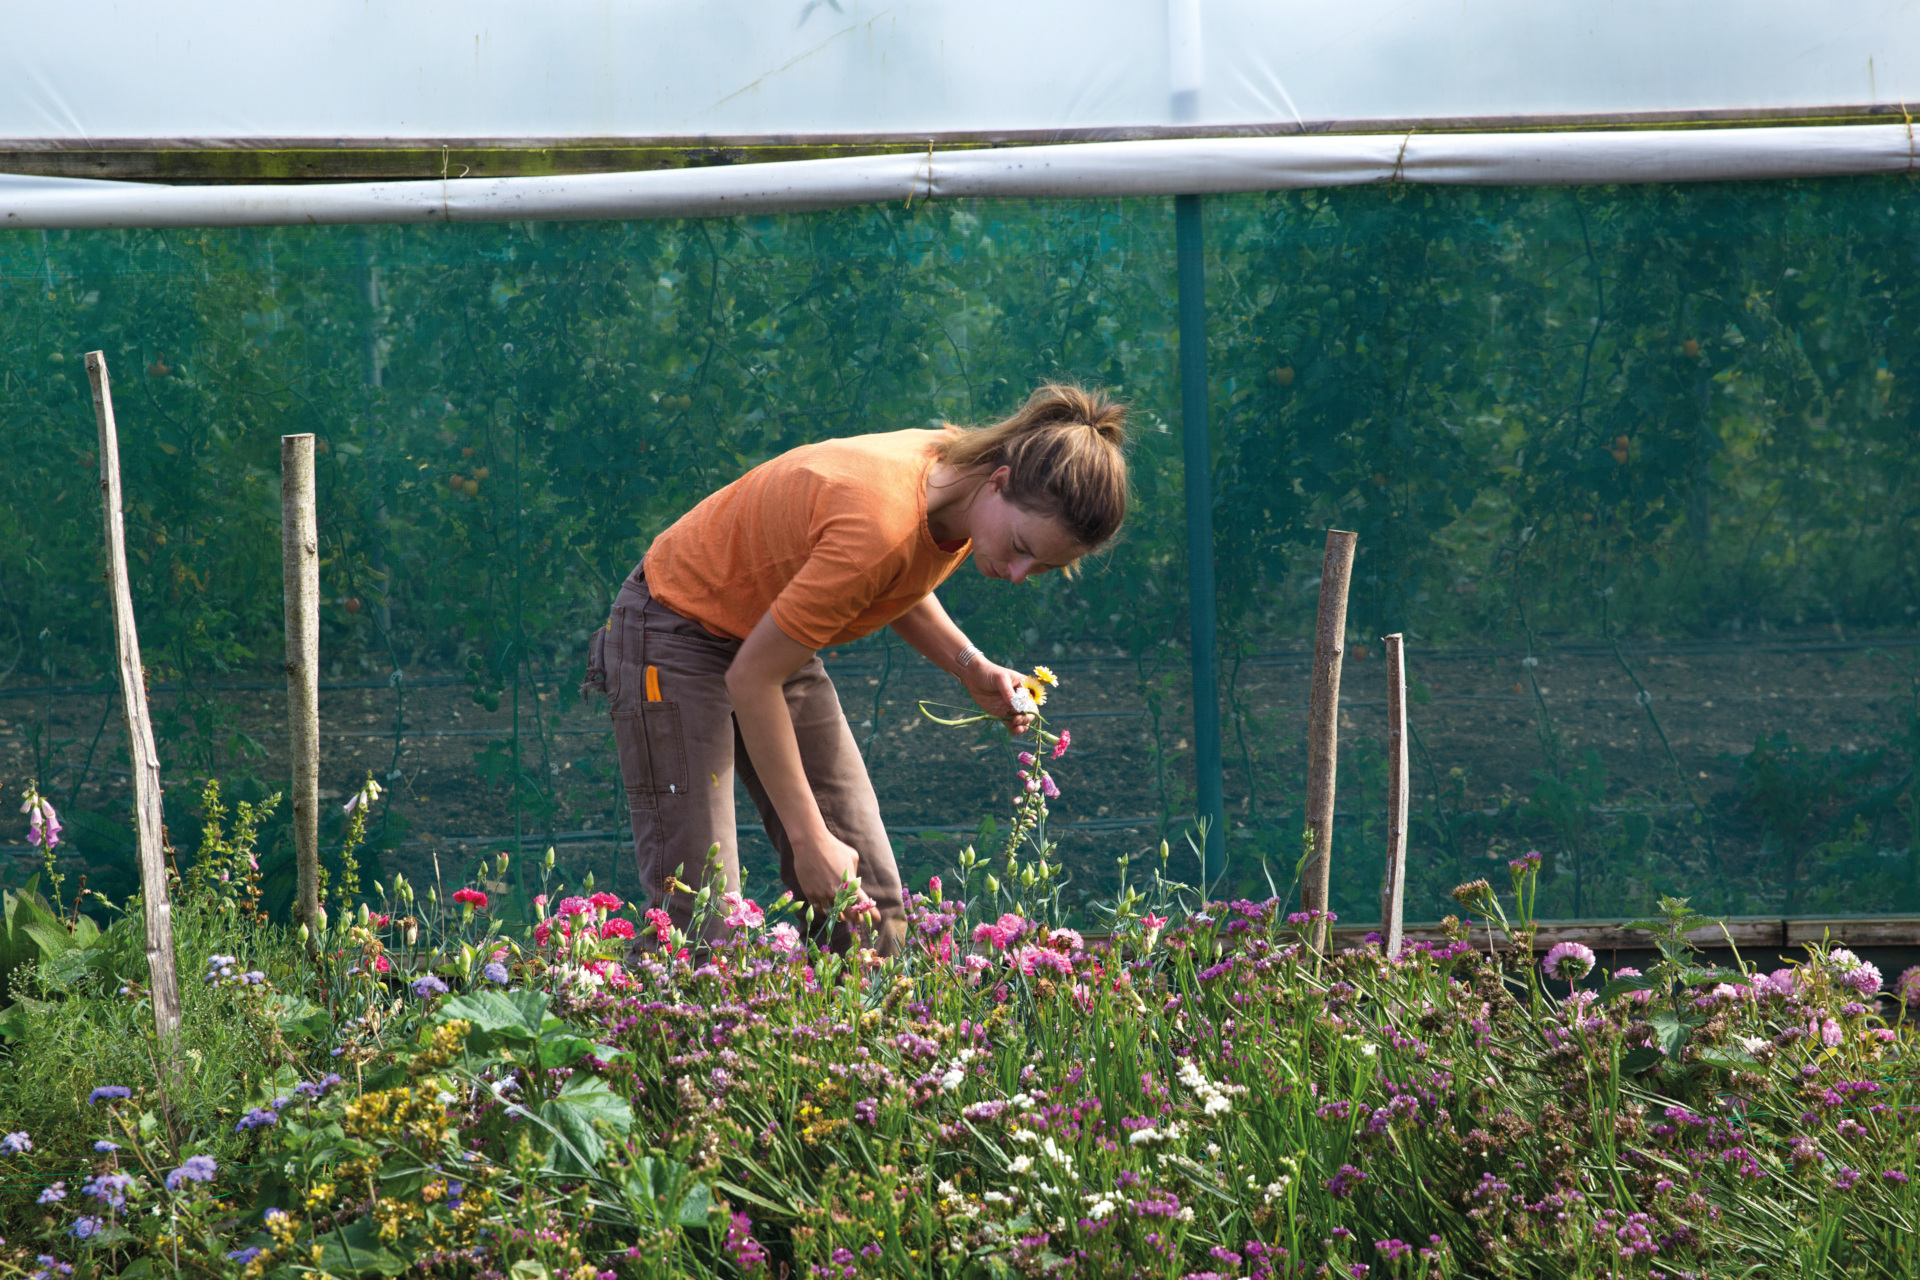
[[[321,913],[321,535],[313,436],[280,436],[280,566],[286,603],[286,733],[294,762],[294,915]]]

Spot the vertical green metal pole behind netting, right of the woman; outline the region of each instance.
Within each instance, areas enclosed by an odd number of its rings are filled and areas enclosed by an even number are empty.
[[[1194,800],[1206,819],[1206,881],[1227,869],[1227,802],[1219,771],[1219,635],[1213,599],[1213,451],[1206,393],[1206,263],[1200,198],[1173,198],[1179,267],[1181,443],[1187,470],[1187,616],[1194,668]]]

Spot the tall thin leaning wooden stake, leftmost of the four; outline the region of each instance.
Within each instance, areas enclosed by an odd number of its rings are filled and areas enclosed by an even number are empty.
[[[132,618],[132,591],[127,587],[127,524],[121,514],[119,432],[113,426],[113,388],[108,382],[106,351],[86,353],[86,380],[94,388],[94,420],[100,426],[100,501],[108,532],[108,597],[113,603],[113,651],[121,677],[121,708],[127,720],[127,760],[132,764],[134,833],[140,848],[140,915],[146,925],[148,992],[154,998],[154,1029],[173,1057],[173,1038],[180,1031],[180,979],[173,967],[173,902],[167,898],[165,837],[159,819],[159,752],[154,748],[154,720],[146,708],[146,670],[140,666],[140,633]]]

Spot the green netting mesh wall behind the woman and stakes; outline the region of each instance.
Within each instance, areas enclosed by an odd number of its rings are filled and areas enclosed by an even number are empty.
[[[1914,213],[1878,178],[1210,200],[1223,890],[1294,879],[1338,526],[1348,921],[1377,913],[1384,631],[1415,685],[1409,917],[1524,848],[1549,915],[1920,910]],[[96,883],[131,881],[86,349],[117,380],[175,831],[192,777],[284,777],[278,436],[315,432],[328,789],[392,775],[390,867],[520,831],[628,883],[574,689],[647,539],[806,439],[1079,378],[1137,411],[1123,541],[1071,581],[964,570],[943,597],[1064,676],[1069,898],[1164,837],[1192,877],[1171,225],[1169,201],[1004,201],[0,234],[0,773],[81,814]],[[885,635],[829,670],[904,869],[950,865],[1008,808],[1006,745],[918,722],[954,691]],[[766,889],[766,846],[745,860]]]

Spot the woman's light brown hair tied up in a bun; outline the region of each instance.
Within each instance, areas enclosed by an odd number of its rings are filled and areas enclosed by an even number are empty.
[[[1048,382],[993,426],[941,449],[948,466],[1006,466],[1006,501],[1060,522],[1092,551],[1127,518],[1127,407],[1106,391]]]

